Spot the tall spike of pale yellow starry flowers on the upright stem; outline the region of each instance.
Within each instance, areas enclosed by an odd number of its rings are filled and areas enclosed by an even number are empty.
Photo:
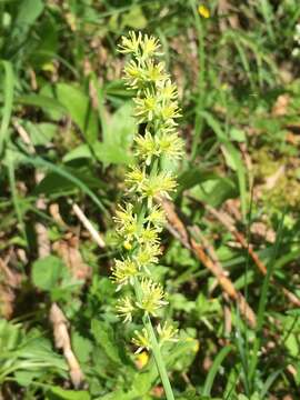
[[[151,278],[151,266],[161,254],[159,233],[166,222],[160,206],[176,190],[174,176],[166,170],[166,160],[180,160],[183,141],[177,133],[180,110],[177,87],[170,80],[166,66],[158,60],[160,43],[148,34],[130,32],[122,37],[119,51],[131,56],[124,67],[124,80],[136,90],[133,99],[139,134],[134,138],[134,163],[126,174],[126,206],[119,206],[114,221],[123,242],[121,259],[114,260],[112,280],[117,290],[126,288],[118,300],[117,311],[124,322],[134,314],[158,317],[166,306],[162,286]],[[169,323],[158,324],[160,344],[173,341],[177,330]],[[132,342],[137,352],[151,349],[151,334],[147,326],[134,332]]]

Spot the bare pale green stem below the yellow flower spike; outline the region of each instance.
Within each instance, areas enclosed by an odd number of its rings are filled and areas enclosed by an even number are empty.
[[[140,301],[141,300],[141,287],[140,287],[140,282],[138,279],[136,279],[136,282],[134,282],[134,291],[136,291],[138,301]],[[152,350],[152,353],[154,357],[154,361],[156,361],[157,369],[158,369],[158,372],[159,372],[159,376],[161,379],[161,383],[164,389],[166,398],[167,398],[167,400],[174,400],[174,394],[173,394],[173,391],[171,388],[171,383],[169,381],[166,364],[163,362],[163,359],[162,359],[162,356],[160,352],[160,347],[159,347],[159,343],[157,340],[157,336],[153,330],[152,322],[151,322],[151,319],[150,319],[148,312],[144,313],[144,316],[142,318],[142,322],[149,334],[149,339],[151,342],[151,350]]]

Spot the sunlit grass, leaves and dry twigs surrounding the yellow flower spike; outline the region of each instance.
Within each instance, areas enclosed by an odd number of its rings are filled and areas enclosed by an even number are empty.
[[[299,399],[299,21],[297,0],[0,2],[2,399],[163,399],[109,279],[130,29],[161,40],[183,114],[154,271],[176,398]]]

